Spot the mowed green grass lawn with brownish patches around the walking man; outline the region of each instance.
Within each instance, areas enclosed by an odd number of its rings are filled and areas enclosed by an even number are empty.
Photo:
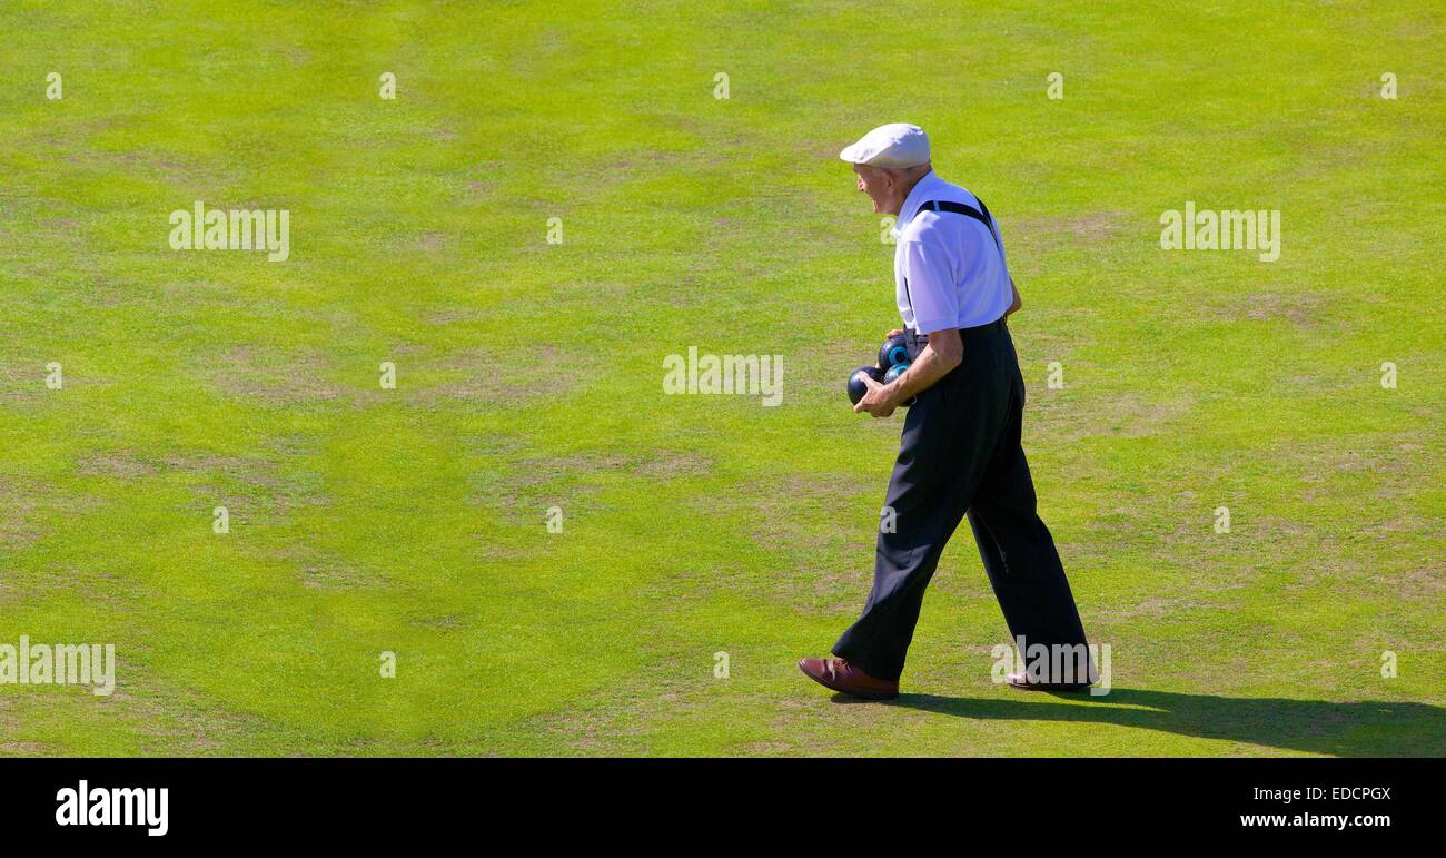
[[[1440,6],[6,0],[0,33],[0,642],[117,657],[108,697],[0,684],[3,754],[1446,752]],[[885,122],[999,220],[1111,695],[991,681],[967,528],[902,697],[794,666],[863,605],[902,422],[842,389],[898,324],[837,159]],[[172,250],[197,200],[288,210],[291,258]],[[1278,210],[1278,262],[1163,250],[1187,200]],[[664,395],[690,346],[781,354],[784,402]]]

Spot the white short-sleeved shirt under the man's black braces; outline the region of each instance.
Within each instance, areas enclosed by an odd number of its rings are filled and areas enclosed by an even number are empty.
[[[899,208],[894,236],[894,284],[904,327],[920,334],[989,324],[1009,310],[1014,289],[999,224],[920,205],[930,200],[979,208],[979,198],[930,171]]]

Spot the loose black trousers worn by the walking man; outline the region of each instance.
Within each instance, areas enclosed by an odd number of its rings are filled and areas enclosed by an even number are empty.
[[[881,527],[873,590],[833,645],[875,679],[904,671],[924,587],[966,514],[1011,635],[1028,647],[1084,644],[1064,566],[1035,514],[1019,446],[1024,378],[1009,328],[1001,320],[960,334],[963,363],[920,394],[904,420],[885,501],[894,532]]]

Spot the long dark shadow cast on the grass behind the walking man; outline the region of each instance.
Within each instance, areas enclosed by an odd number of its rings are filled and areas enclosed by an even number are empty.
[[[1429,703],[1327,703],[1142,689],[1112,689],[1100,696],[1018,693],[1027,699],[899,695],[885,705],[957,718],[1118,723],[1336,757],[1446,755],[1446,709]],[[862,703],[844,695],[834,695],[833,699],[837,703]],[[1060,702],[1048,703],[1051,699]]]

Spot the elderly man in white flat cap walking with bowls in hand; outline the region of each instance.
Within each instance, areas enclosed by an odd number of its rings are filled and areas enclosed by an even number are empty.
[[[834,658],[804,658],[798,667],[836,692],[897,696],[924,589],[967,515],[1015,642],[1083,655],[1074,664],[1031,666],[1009,674],[1009,684],[1087,689],[1095,674],[1084,628],[1054,540],[1035,514],[1019,446],[1024,379],[1005,327],[1019,292],[999,230],[977,197],[934,174],[918,126],[873,129],[839,156],[853,165],[873,211],[898,216],[894,279],[904,328],[889,336],[905,336],[911,359],[886,385],[865,376],[869,391],[855,411],[889,417],[915,402],[888,489],[895,527],[879,528],[863,615],[833,645]]]

